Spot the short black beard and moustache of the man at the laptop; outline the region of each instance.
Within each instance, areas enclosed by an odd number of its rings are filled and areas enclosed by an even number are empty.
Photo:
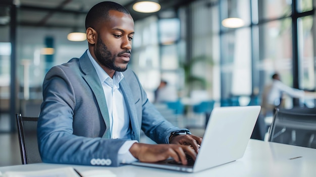
[[[122,53],[125,53],[125,52],[130,53],[130,51],[124,51]],[[121,68],[115,65],[115,58],[117,55],[112,54],[111,51],[108,49],[107,45],[104,44],[100,38],[97,39],[97,44],[96,44],[96,48],[94,49],[94,54],[99,65],[103,67],[107,67],[118,72],[124,72],[127,70],[127,66],[126,68]]]

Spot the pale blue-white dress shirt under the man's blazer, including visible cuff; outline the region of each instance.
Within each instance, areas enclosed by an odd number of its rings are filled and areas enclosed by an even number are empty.
[[[87,54],[102,84],[110,117],[110,130],[113,139],[129,139],[119,149],[118,160],[121,163],[131,163],[137,159],[130,153],[130,147],[137,141],[131,139],[130,119],[125,99],[120,89],[120,81],[124,78],[122,72],[115,72],[111,78],[93,59],[89,50]]]

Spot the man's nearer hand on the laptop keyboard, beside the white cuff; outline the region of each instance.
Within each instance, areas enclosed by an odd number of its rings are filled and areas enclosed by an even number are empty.
[[[135,158],[142,162],[156,162],[172,157],[175,161],[186,165],[187,159],[185,153],[190,155],[194,160],[196,158],[194,150],[186,145],[134,143],[129,151]]]

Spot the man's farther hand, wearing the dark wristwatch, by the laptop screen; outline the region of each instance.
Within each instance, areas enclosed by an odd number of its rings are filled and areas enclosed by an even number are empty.
[[[195,153],[198,152],[199,146],[202,143],[202,138],[195,135],[177,135],[170,138],[170,144],[190,145]]]

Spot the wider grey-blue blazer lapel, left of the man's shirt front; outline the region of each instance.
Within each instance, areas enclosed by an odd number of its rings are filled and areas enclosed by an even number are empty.
[[[102,85],[100,84],[100,80],[96,74],[96,71],[89,59],[87,52],[85,52],[79,59],[79,67],[83,73],[83,79],[88,83],[96,101],[98,103],[100,112],[102,114],[103,120],[106,123],[106,132],[104,132],[102,138],[112,138],[111,130],[110,130],[110,117],[107,106],[106,97],[104,96]]]

